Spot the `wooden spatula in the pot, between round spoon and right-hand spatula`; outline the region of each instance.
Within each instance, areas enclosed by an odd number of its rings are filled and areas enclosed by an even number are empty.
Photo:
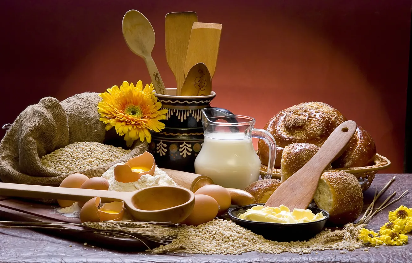
[[[193,23],[197,22],[196,12],[175,12],[166,14],[164,33],[166,59],[176,78],[177,96],[185,82],[185,59]]]

